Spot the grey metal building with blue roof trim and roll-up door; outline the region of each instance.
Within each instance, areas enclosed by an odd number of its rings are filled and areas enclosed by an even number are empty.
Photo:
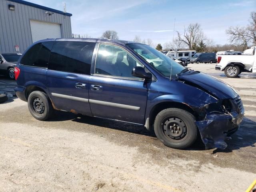
[[[46,38],[71,38],[72,14],[23,0],[0,0],[0,52],[24,52]]]

